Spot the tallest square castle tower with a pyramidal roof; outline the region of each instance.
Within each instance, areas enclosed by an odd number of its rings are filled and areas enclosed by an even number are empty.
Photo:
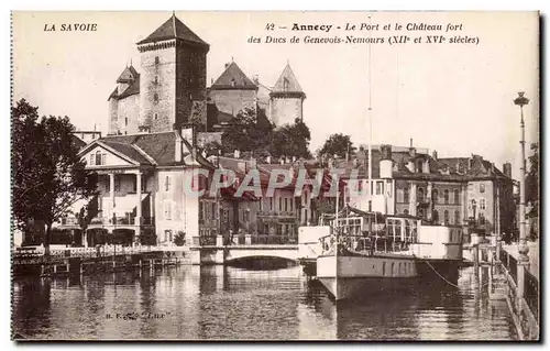
[[[151,132],[206,123],[206,56],[210,46],[175,14],[138,43],[141,53],[139,127]]]

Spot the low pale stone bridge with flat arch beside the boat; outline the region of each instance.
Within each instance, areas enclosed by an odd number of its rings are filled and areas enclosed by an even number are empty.
[[[263,259],[297,261],[297,244],[232,244],[194,245],[190,248],[191,264],[231,264]]]

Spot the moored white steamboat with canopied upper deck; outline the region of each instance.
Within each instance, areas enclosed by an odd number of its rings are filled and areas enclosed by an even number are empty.
[[[315,274],[336,300],[410,288],[421,281],[457,284],[462,239],[448,227],[350,206],[320,221],[324,223],[302,228],[302,234],[323,233]]]

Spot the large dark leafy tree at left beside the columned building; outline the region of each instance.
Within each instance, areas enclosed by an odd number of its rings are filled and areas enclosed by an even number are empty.
[[[52,224],[96,193],[97,174],[85,168],[67,117],[37,121],[37,107],[21,100],[12,108],[12,120],[13,217],[22,227],[31,219],[45,223],[47,254]]]

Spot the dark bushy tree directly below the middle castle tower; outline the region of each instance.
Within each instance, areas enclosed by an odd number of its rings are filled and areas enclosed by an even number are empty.
[[[260,110],[246,107],[239,111],[221,135],[222,151],[265,151],[270,147],[274,125]]]

